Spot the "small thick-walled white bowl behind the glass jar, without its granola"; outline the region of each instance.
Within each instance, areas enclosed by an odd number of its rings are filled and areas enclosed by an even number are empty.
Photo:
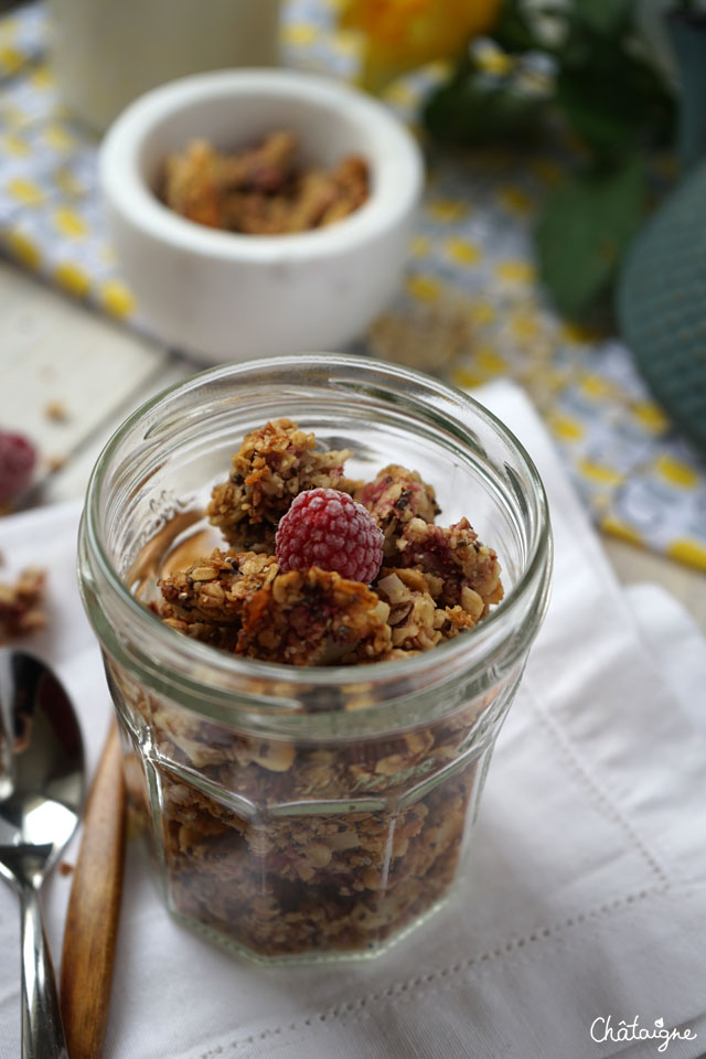
[[[157,194],[167,154],[194,139],[220,149],[290,129],[307,160],[362,154],[367,202],[325,228],[285,236],[203,227]],[[163,85],[109,129],[99,179],[111,238],[156,334],[205,362],[336,349],[362,333],[399,285],[424,165],[381,104],[323,77],[216,71]]]

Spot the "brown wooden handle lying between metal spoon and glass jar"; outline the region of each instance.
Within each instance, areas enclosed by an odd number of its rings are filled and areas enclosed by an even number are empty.
[[[99,1059],[115,958],[125,858],[125,778],[115,720],[93,781],[74,869],[62,955],[69,1059]]]

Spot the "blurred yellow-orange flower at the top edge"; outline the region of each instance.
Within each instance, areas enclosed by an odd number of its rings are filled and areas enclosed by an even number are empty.
[[[469,38],[486,32],[501,0],[346,0],[342,25],[364,35],[366,88],[432,60],[456,57]]]

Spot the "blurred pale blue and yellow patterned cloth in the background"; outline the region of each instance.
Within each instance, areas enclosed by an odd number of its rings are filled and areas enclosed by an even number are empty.
[[[352,78],[355,40],[335,0],[289,0],[284,44],[301,68]],[[141,328],[106,240],[96,143],[57,103],[46,13],[0,20],[0,244],[66,293]],[[432,69],[386,101],[413,120]],[[355,349],[472,387],[522,383],[544,415],[595,521],[706,568],[706,467],[651,400],[629,351],[565,324],[535,282],[532,224],[556,159],[501,151],[428,156],[429,179],[404,289]]]

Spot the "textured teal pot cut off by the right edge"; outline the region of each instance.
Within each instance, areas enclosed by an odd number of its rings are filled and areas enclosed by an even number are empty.
[[[622,336],[655,397],[706,452],[706,15],[667,20],[682,74],[687,176],[631,247],[618,288]]]

